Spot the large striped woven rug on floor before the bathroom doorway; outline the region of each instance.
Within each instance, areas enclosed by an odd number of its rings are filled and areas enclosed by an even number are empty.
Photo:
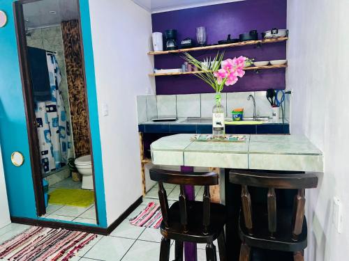
[[[0,245],[0,260],[66,261],[96,237],[87,232],[31,227]]]

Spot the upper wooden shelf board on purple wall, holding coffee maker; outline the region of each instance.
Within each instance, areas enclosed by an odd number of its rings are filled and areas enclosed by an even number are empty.
[[[266,39],[266,40],[253,40],[253,41],[245,41],[245,42],[235,42],[232,44],[226,44],[226,45],[209,45],[204,47],[193,47],[193,48],[186,48],[186,49],[177,49],[172,51],[158,51],[158,52],[149,52],[149,55],[159,55],[159,54],[179,54],[184,52],[195,52],[195,51],[205,51],[205,50],[213,50],[213,49],[222,49],[222,48],[232,48],[232,47],[239,47],[244,45],[258,45],[258,44],[267,44],[272,42],[284,42],[287,41],[287,37],[282,38],[274,38],[274,39]]]

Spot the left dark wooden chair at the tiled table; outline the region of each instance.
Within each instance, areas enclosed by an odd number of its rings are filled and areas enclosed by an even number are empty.
[[[216,261],[216,247],[213,244],[216,239],[220,260],[227,260],[224,236],[225,206],[211,203],[209,194],[209,186],[218,184],[218,174],[181,173],[152,168],[150,178],[158,182],[158,197],[163,214],[160,261],[168,261],[170,258],[170,239],[175,240],[175,261],[183,260],[184,242],[206,243],[207,260]],[[164,182],[180,186],[179,201],[171,207],[168,207]],[[205,186],[203,200],[187,200],[184,185]]]

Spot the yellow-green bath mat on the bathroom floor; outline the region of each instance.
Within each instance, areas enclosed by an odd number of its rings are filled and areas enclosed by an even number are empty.
[[[49,194],[48,203],[74,207],[89,207],[94,203],[94,191],[84,189],[55,189]]]

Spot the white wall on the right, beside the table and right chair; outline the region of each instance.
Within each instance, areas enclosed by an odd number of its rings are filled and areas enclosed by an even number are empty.
[[[325,155],[318,189],[307,192],[306,260],[348,260],[348,0],[288,1],[287,86],[292,134],[306,134]],[[333,198],[343,203],[343,232],[332,225]]]

